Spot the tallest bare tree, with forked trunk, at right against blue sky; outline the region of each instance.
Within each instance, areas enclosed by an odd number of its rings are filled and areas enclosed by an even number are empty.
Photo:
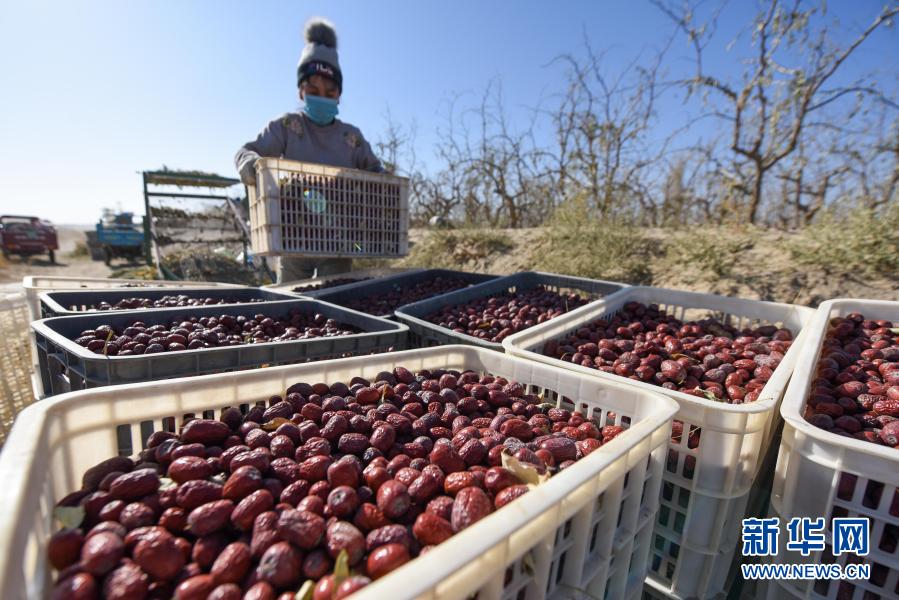
[[[710,73],[703,58],[716,31],[718,11],[699,22],[694,7],[675,7],[651,0],[668,15],[692,46],[695,73],[683,80],[689,94],[702,92],[712,114],[731,129],[729,149],[751,167],[746,181],[745,218],[761,219],[765,181],[772,170],[791,157],[800,145],[810,120],[853,95],[883,99],[870,81],[832,85],[847,59],[880,27],[899,13],[895,4],[884,7],[846,46],[832,43],[824,21],[824,4],[803,8],[800,0],[789,5],[771,0],[758,13],[752,28],[754,56],[737,81]],[[719,9],[720,11],[720,9]],[[814,18],[818,17],[818,18]]]

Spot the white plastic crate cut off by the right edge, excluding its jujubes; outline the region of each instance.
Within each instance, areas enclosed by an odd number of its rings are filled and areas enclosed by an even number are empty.
[[[771,491],[771,516],[784,524],[793,517],[824,517],[825,540],[830,543],[833,517],[867,517],[871,520],[871,552],[863,560],[871,565],[869,581],[770,582],[762,598],[846,600],[899,597],[899,450],[834,435],[804,418],[806,399],[817,373],[821,345],[833,317],[860,312],[867,319],[899,322],[899,302],[880,300],[829,300],[823,302],[807,327],[807,339],[796,363],[796,372],[784,396],[781,415],[783,438]],[[808,557],[787,552],[781,541],[775,560],[783,563],[838,563],[852,555],[834,557],[828,550]]]

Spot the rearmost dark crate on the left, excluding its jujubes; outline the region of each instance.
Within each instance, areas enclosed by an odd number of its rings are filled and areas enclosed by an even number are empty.
[[[91,309],[101,302],[115,304],[119,300],[128,298],[149,298],[157,300],[164,296],[187,296],[188,298],[213,298],[226,300],[227,304],[211,304],[208,306],[229,306],[241,303],[275,302],[278,300],[291,300],[296,298],[291,294],[285,294],[274,290],[262,290],[259,288],[132,288],[126,290],[77,290],[67,292],[43,292],[39,298],[41,302],[41,318],[62,317],[84,313],[119,312],[118,310]],[[123,309],[123,310],[150,310],[150,308]]]

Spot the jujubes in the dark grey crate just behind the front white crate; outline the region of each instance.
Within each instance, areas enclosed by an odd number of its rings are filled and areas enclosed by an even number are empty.
[[[258,314],[188,317],[168,325],[147,325],[134,321],[125,328],[100,325],[82,331],[75,343],[94,354],[132,356],[179,350],[199,350],[243,344],[307,340],[351,335],[358,331],[320,313],[291,309],[286,317]]]

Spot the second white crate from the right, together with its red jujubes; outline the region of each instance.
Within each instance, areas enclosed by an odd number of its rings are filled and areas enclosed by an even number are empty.
[[[724,592],[739,540],[740,520],[776,429],[777,407],[798,354],[798,344],[790,340],[796,339],[813,314],[810,308],[789,304],[630,287],[503,341],[506,351],[513,355],[604,381],[654,390],[679,404],[653,531],[647,584],[655,590],[672,598],[710,598]],[[671,319],[677,324],[669,325]],[[651,363],[655,366],[645,369],[650,363],[643,358],[648,354],[626,356],[634,354],[636,346],[627,350],[630,346],[618,342],[641,337],[649,340],[641,334],[650,332],[646,326],[653,320],[659,321],[653,332],[667,336],[672,345],[659,342],[650,354],[658,358],[664,355],[668,360],[657,360],[660,364]],[[720,379],[722,374],[703,375],[717,369],[720,360],[706,363],[705,350],[697,354],[681,349],[692,346],[689,340],[698,339],[700,334],[708,335],[709,345],[717,344],[721,351],[746,337],[737,344],[743,357],[756,354],[747,350],[753,343],[748,339],[750,334],[767,340],[768,347],[756,348],[759,361],[748,360],[754,365],[748,381],[730,390],[729,383],[711,380]],[[591,335],[602,342],[588,342],[596,348],[582,343],[559,356],[572,340],[586,341],[592,339]],[[696,360],[700,355],[702,360]],[[776,368],[765,366],[769,356],[778,357]],[[610,366],[613,358],[614,368]],[[693,385],[688,385],[690,378],[697,387],[690,393],[681,391],[679,388]]]

